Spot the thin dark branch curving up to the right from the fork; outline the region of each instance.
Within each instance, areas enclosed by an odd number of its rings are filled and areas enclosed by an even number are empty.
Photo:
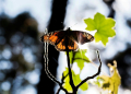
[[[92,75],[92,77],[87,77],[86,79],[84,79],[79,85],[76,85],[76,90],[83,84],[85,83],[87,80],[90,79],[94,79],[95,77],[97,77],[99,73],[100,73],[100,68],[102,68],[102,61],[100,61],[100,57],[99,57],[99,54],[98,54],[98,50],[97,50],[97,56],[98,56],[98,60],[99,60],[99,67],[98,67],[98,71],[96,74]]]

